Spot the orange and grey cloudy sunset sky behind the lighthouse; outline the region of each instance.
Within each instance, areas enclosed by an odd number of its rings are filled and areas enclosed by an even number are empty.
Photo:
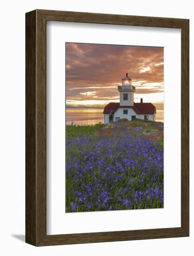
[[[119,102],[126,73],[136,87],[134,102],[163,108],[163,47],[66,43],[66,104],[104,107]]]

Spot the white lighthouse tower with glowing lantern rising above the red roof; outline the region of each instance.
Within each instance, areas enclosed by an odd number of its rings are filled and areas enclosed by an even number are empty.
[[[122,79],[122,86],[118,86],[120,106],[134,106],[135,87],[131,85],[131,81],[131,78],[126,74],[126,77]]]

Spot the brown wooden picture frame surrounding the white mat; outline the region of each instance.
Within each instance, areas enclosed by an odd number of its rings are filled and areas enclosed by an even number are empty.
[[[48,20],[181,29],[181,227],[47,235]],[[35,246],[189,236],[189,20],[34,10],[26,13],[26,243]]]

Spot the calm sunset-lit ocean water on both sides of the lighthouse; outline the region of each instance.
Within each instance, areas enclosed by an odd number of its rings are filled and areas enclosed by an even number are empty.
[[[164,121],[164,109],[156,109],[156,121]],[[66,124],[92,125],[104,123],[103,108],[66,108]]]

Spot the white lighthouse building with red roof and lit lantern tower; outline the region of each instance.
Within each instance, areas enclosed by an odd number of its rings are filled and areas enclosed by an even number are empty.
[[[118,91],[120,102],[111,102],[104,108],[105,124],[124,118],[129,121],[133,118],[155,121],[156,108],[152,103],[144,103],[142,98],[139,103],[134,102],[135,87],[128,74],[122,79],[122,85],[118,86]]]

